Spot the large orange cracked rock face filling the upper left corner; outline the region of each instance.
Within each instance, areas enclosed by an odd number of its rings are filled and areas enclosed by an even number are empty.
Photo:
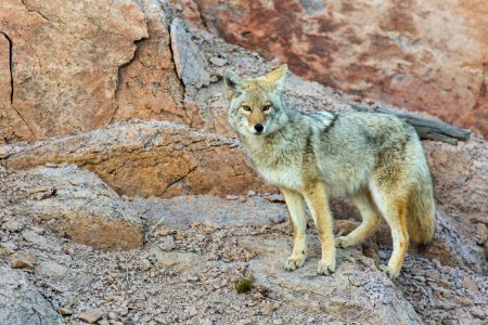
[[[159,1],[5,0],[0,13],[0,142],[113,120],[190,123]]]

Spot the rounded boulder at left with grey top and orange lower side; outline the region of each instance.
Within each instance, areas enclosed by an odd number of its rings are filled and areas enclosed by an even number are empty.
[[[142,223],[136,212],[95,174],[77,166],[38,167],[9,174],[3,184],[16,214],[38,222],[73,240],[102,250],[141,246]],[[3,186],[2,186],[3,187]],[[37,242],[35,233],[23,233]]]

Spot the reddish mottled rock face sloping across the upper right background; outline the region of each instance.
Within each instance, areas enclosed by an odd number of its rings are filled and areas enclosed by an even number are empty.
[[[485,1],[171,2],[301,77],[488,135]]]

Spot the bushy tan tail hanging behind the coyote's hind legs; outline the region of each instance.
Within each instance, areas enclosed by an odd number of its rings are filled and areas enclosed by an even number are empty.
[[[410,193],[408,231],[412,242],[427,244],[434,238],[436,217],[431,176],[420,178]]]

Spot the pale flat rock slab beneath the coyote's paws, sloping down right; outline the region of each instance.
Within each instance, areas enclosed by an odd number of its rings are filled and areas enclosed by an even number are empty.
[[[313,244],[314,247],[318,245]],[[266,249],[261,248],[260,258],[251,261],[248,272],[255,277],[256,285],[280,292],[285,304],[310,313],[326,310],[329,314],[341,315],[347,323],[422,324],[395,284],[376,269],[372,259],[357,250],[339,250],[335,273],[320,276],[317,275],[317,256],[308,258],[303,268],[284,272],[284,261],[290,252],[287,244],[277,239],[261,242],[260,246]]]

